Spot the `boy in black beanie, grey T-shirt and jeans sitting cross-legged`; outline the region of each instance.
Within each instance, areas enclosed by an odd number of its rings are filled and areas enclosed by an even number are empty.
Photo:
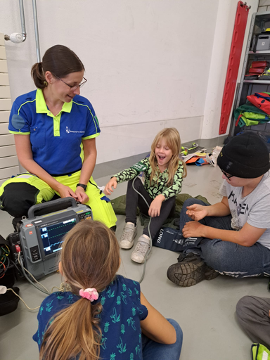
[[[220,203],[188,199],[180,215],[185,238],[201,237],[169,266],[167,277],[191,286],[218,274],[270,276],[269,150],[257,134],[233,137],[217,159],[224,179]]]

